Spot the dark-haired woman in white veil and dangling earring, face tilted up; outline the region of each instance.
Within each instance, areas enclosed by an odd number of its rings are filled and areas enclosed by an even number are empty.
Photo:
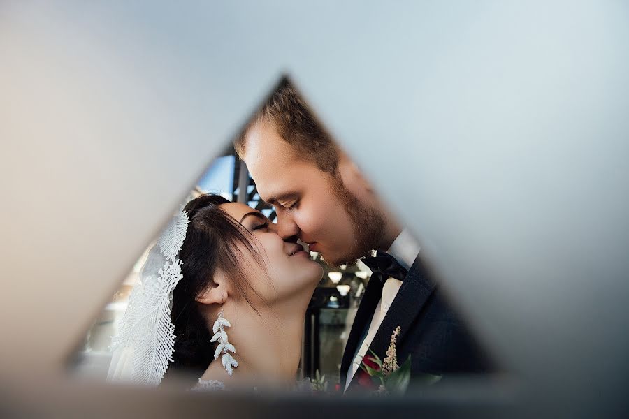
[[[289,388],[322,274],[261,212],[199,196],[149,253],[108,379],[157,385],[168,369],[194,374],[195,389]]]

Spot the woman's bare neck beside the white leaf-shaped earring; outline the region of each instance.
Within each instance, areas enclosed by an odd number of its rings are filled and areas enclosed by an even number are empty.
[[[284,311],[284,310],[282,310]],[[305,311],[305,310],[304,310]],[[303,316],[282,316],[265,308],[257,314],[249,307],[234,304],[224,307],[223,316],[230,321],[226,328],[229,342],[236,347],[233,357],[238,367],[229,376],[219,359],[210,363],[201,379],[219,380],[226,385],[291,385],[301,358]],[[208,318],[212,328],[215,318]],[[228,384],[229,383],[229,384]]]

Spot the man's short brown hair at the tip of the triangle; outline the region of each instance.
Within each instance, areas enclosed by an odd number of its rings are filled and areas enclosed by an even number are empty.
[[[273,126],[293,147],[298,158],[312,161],[320,170],[337,175],[339,154],[335,142],[288,78],[280,80],[273,94],[234,142],[241,158],[245,154],[247,131],[261,123]]]

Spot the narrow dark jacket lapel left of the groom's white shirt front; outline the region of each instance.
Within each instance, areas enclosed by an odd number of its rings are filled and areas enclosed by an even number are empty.
[[[342,388],[345,388],[347,372],[354,361],[356,349],[362,343],[363,332],[369,327],[373,311],[382,296],[382,286],[379,274],[373,274],[367,283],[361,304],[358,310],[356,310],[356,317],[354,317],[354,323],[352,323],[352,330],[349,331],[349,337],[347,337],[347,344],[345,344],[345,351],[341,361],[340,382]]]

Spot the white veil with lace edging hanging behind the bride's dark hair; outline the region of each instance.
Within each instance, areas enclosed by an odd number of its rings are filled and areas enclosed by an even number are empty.
[[[108,381],[156,386],[173,361],[171,308],[173,290],[182,279],[178,255],[188,222],[186,212],[180,210],[150,250],[129,296],[120,334],[112,341]]]

